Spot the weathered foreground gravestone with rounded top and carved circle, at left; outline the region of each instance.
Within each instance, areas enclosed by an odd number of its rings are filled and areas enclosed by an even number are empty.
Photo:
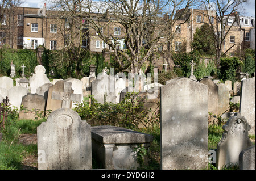
[[[37,133],[39,170],[92,169],[90,125],[75,111],[53,111]]]

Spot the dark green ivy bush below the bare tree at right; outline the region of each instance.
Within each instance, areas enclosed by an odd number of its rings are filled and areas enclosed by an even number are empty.
[[[236,70],[241,65],[238,57],[222,57],[220,58],[220,69],[218,69],[218,78],[223,81],[236,81]]]

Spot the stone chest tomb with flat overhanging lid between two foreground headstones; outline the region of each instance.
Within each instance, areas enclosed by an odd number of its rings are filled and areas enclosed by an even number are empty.
[[[137,169],[134,149],[141,144],[147,149],[152,140],[149,134],[121,127],[92,127],[92,156],[99,169]]]

